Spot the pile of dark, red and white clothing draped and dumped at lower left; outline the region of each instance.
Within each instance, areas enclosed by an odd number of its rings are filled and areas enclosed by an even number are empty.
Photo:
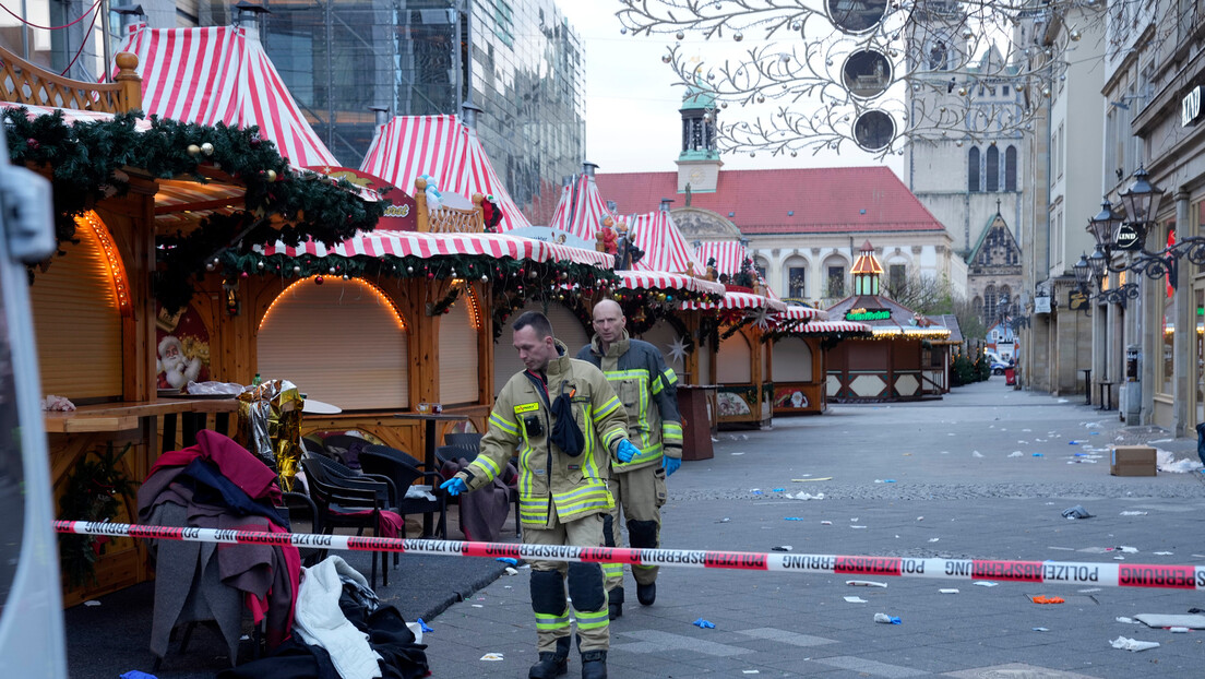
[[[217,432],[164,453],[139,491],[139,519],[159,526],[288,533],[276,475]],[[155,544],[158,543],[158,544]],[[302,568],[293,545],[152,540],[155,602],[151,650],[163,658],[172,628],[217,624],[231,665],[242,608],[263,624],[268,655],[224,679],[411,679],[427,677],[425,645],[394,607],[337,556]]]

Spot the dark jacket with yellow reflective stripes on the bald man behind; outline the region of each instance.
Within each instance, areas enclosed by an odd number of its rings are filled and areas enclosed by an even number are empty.
[[[682,416],[677,409],[677,375],[662,352],[642,340],[623,336],[606,353],[595,334],[577,358],[598,365],[628,411],[628,440],[640,449],[631,462],[612,460],[616,472],[660,464],[662,456],[682,457]]]

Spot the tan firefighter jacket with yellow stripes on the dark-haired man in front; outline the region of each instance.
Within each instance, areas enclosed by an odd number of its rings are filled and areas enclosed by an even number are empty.
[[[610,460],[628,435],[628,415],[602,373],[569,358],[560,340],[557,350],[560,356],[548,362],[547,381],[524,370],[506,382],[489,414],[480,455],[457,474],[475,491],[498,476],[517,450],[519,520],[536,528],[551,527],[552,508],[565,522],[615,507],[606,487]],[[556,425],[551,404],[563,392],[586,439],[577,457],[549,441]]]

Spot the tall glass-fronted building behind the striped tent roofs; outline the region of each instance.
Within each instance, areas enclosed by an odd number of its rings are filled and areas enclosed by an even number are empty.
[[[534,223],[584,152],[582,42],[553,0],[266,0],[264,47],[315,130],[358,166],[371,107],[460,113]],[[410,188],[411,187],[404,187]]]

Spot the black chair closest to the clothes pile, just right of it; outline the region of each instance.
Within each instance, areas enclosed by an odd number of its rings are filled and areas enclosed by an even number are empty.
[[[310,481],[310,497],[318,509],[318,521],[323,533],[334,534],[335,528],[355,528],[357,535],[364,534],[364,528],[371,528],[375,535],[381,533],[381,513],[390,509],[392,484],[372,478],[349,479],[340,476],[330,464],[331,460],[312,453],[301,457],[301,468]],[[342,467],[342,466],[340,466]],[[381,557],[383,573],[382,585],[389,586],[388,562],[382,552],[372,552],[372,574],[369,579],[376,589],[377,557]]]

